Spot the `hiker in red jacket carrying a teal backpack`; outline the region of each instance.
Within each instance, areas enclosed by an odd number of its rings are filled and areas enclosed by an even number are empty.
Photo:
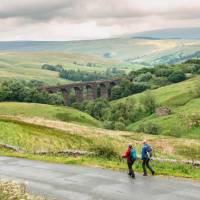
[[[133,150],[133,147],[131,144],[128,145],[128,149],[127,151],[123,154],[122,158],[126,158],[127,159],[127,165],[128,165],[128,169],[129,169],[129,172],[128,172],[128,175],[132,178],[135,178],[135,173],[133,171],[133,164],[136,160],[136,158],[132,158],[132,152],[131,151],[135,151]],[[136,154],[136,153],[135,153]],[[134,156],[133,156],[134,157]]]

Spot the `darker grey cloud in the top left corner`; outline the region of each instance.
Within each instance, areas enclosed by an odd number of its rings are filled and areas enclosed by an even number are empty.
[[[76,0],[1,0],[0,18],[52,19],[65,8],[70,10]],[[62,14],[62,12],[61,12]]]

